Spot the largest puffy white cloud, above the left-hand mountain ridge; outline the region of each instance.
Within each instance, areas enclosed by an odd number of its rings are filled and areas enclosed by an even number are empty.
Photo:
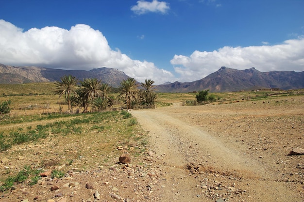
[[[143,82],[145,78],[161,84],[173,80],[169,71],[154,63],[132,60],[112,50],[101,31],[78,24],[70,30],[59,27],[23,31],[0,19],[0,62],[7,65],[37,65],[50,68],[89,70],[116,68]]]

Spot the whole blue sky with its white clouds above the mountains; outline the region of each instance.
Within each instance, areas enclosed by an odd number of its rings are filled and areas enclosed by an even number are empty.
[[[221,66],[304,71],[303,0],[2,0],[0,63],[111,67],[142,82]]]

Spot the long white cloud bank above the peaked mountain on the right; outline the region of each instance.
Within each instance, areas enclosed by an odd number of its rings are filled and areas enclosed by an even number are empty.
[[[204,78],[221,66],[240,70],[255,67],[261,72],[304,71],[304,38],[274,46],[222,47],[212,52],[196,50],[190,56],[175,55],[170,62],[183,81]]]

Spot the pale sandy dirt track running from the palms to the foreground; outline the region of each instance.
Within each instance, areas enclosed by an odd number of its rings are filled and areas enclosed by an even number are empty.
[[[233,142],[223,142],[203,131],[201,127],[185,123],[175,113],[171,113],[172,108],[176,111],[182,110],[182,107],[174,104],[167,109],[132,111],[139,124],[150,134],[153,151],[156,155],[163,156],[161,163],[168,175],[163,182],[164,201],[214,201],[214,198],[203,196],[204,190],[202,191],[200,184],[202,180],[199,178],[206,180],[206,177],[207,181],[222,180],[226,183],[225,187],[237,183],[242,195],[237,199],[226,195],[230,202],[284,202],[294,198],[294,193],[286,190],[284,183],[272,180],[274,173],[265,165],[241,154]],[[222,177],[210,179],[210,176],[217,176],[213,173],[191,175],[186,169],[188,163],[200,165],[207,171],[211,169],[211,172],[219,173]],[[228,175],[236,178],[230,180]]]

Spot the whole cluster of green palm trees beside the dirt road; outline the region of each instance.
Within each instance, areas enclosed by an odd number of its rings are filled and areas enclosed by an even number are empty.
[[[117,100],[124,99],[127,110],[135,106],[153,108],[157,99],[157,94],[153,91],[153,83],[153,80],[145,79],[145,82],[139,86],[134,78],[122,80],[118,87]],[[82,106],[83,112],[88,112],[89,104],[92,109],[101,111],[113,106],[115,101],[115,98],[110,96],[111,86],[101,83],[97,78],[85,78],[79,81],[74,76],[65,75],[55,84],[55,94],[59,94],[59,97],[65,95],[69,111],[73,106]]]

